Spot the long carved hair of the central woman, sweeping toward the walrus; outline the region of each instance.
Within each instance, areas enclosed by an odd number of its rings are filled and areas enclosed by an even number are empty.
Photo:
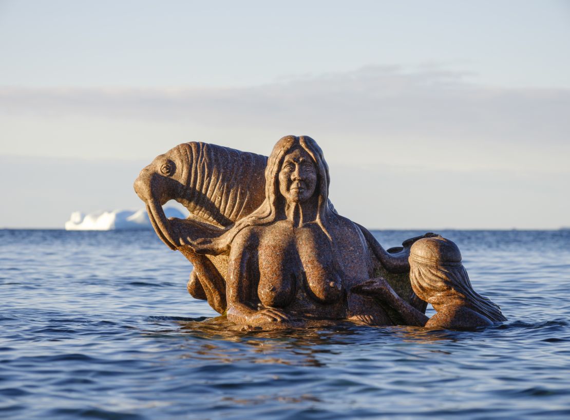
[[[265,168],[265,199],[263,203],[251,213],[251,215],[238,220],[233,226],[227,228],[221,236],[197,241],[198,243],[192,245],[197,252],[221,254],[229,249],[231,241],[234,240],[235,236],[241,232],[242,229],[251,226],[271,224],[277,220],[279,215],[278,206],[284,205],[281,200],[282,195],[279,191],[279,171],[286,155],[297,147],[301,147],[305,150],[315,164],[318,174],[315,189],[315,194],[317,194],[318,198],[316,222],[321,229],[323,229],[323,232],[328,236],[329,240],[332,241],[327,227],[330,225],[331,218],[336,217],[336,213],[328,201],[330,176],[327,162],[324,160],[323,151],[311,137],[306,135],[299,137],[287,135],[276,143],[267,160],[267,166]]]

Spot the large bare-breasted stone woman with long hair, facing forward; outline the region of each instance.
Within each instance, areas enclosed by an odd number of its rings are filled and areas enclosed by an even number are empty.
[[[265,199],[219,236],[189,241],[199,253],[229,249],[227,317],[238,324],[356,319],[391,324],[373,299],[350,292],[372,277],[361,229],[333,211],[323,152],[310,137],[279,140],[265,170]],[[374,246],[376,248],[374,248]],[[408,269],[373,246],[385,267]]]

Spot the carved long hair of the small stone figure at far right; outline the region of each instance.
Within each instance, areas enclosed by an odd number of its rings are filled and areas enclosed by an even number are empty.
[[[461,253],[445,238],[423,238],[410,249],[410,281],[421,299],[434,305],[461,302],[493,322],[506,318],[497,304],[473,290]]]

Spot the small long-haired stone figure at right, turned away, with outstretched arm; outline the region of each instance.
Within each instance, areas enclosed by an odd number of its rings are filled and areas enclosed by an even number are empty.
[[[412,326],[463,329],[506,320],[498,305],[473,290],[454,242],[441,236],[422,238],[412,245],[409,262],[414,293],[437,312],[431,318],[402,300],[385,279],[366,281],[353,291],[380,299]]]

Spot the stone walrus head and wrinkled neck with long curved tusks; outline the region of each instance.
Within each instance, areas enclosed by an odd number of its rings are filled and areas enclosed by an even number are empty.
[[[264,198],[267,157],[201,142],[182,143],[146,166],[135,191],[158,237],[177,249],[162,205],[176,200],[189,217],[226,227],[249,215]]]

